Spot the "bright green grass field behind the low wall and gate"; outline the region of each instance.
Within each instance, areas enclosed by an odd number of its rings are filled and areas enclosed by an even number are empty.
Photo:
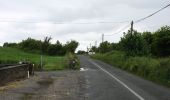
[[[31,61],[38,67],[40,54],[23,52],[14,48],[0,48],[0,63],[18,63],[19,61]],[[57,56],[43,56],[44,70],[63,70],[66,68],[66,58]]]

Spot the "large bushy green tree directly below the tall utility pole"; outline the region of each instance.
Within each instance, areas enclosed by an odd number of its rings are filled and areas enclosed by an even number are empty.
[[[120,41],[121,48],[130,56],[142,56],[148,54],[148,46],[141,33],[134,31],[133,34],[128,31]]]

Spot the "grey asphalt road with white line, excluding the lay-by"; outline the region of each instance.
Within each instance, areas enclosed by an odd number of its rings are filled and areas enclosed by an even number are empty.
[[[170,89],[98,60],[79,56],[88,100],[170,100]]]

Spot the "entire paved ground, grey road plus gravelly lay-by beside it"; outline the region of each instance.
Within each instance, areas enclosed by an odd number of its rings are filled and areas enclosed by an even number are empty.
[[[36,72],[0,87],[0,100],[170,100],[170,89],[87,56],[80,71]]]

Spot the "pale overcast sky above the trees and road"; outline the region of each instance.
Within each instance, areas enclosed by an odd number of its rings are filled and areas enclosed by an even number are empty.
[[[28,37],[42,40],[51,36],[52,43],[76,40],[80,43],[78,49],[86,50],[90,43],[101,42],[102,33],[114,34],[131,20],[169,3],[169,0],[0,0],[0,45]],[[155,31],[163,25],[170,25],[170,7],[134,28]],[[118,42],[121,36],[122,32],[106,36],[105,40]]]

